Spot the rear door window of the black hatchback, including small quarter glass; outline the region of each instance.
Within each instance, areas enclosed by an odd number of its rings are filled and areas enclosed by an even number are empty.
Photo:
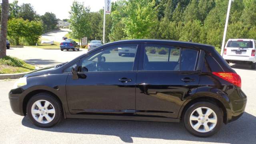
[[[194,71],[198,50],[165,45],[145,45],[143,70]]]

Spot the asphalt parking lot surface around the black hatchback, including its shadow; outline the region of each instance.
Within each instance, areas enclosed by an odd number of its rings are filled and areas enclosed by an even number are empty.
[[[36,52],[36,50],[34,51]],[[40,50],[38,59],[42,66],[69,61],[81,52],[60,53],[50,58],[54,50]],[[7,52],[8,54],[8,52]],[[9,53],[10,54],[10,53]],[[56,51],[57,54],[57,51]],[[22,54],[20,54],[22,58]],[[30,54],[24,60],[32,59]],[[36,56],[34,56],[36,57]],[[50,58],[50,59],[49,59]],[[60,60],[58,60],[60,58]],[[33,58],[35,59],[35,58]],[[47,62],[51,60],[53,62]],[[37,62],[37,60],[34,60]],[[197,138],[189,134],[182,123],[137,122],[118,120],[66,119],[53,128],[39,128],[30,123],[27,116],[18,116],[10,108],[8,92],[15,80],[0,81],[0,144],[255,144],[256,143],[256,70],[246,65],[233,65],[242,78],[242,90],[248,97],[244,115],[227,125],[210,138]]]

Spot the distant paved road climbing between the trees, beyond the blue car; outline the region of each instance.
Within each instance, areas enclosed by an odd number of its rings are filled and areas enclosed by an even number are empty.
[[[70,30],[68,28],[61,28],[60,30],[55,30],[52,32],[48,32],[42,35],[42,38],[48,39],[48,40],[54,40],[55,42],[62,42],[62,37],[65,36],[65,34],[68,34]]]

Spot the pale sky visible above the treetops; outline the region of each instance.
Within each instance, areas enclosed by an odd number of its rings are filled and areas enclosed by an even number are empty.
[[[13,2],[14,0],[9,0]],[[18,4],[30,3],[36,12],[43,15],[45,12],[52,12],[56,14],[59,19],[68,18],[70,6],[74,0],[18,0]],[[90,6],[92,12],[97,12],[104,6],[104,0],[77,0],[78,2],[84,2],[84,6]],[[117,0],[111,0],[115,2]]]

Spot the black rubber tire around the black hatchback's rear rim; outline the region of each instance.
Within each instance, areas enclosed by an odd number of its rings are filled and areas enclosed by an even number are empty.
[[[192,128],[192,126],[190,124],[190,119],[189,119],[190,115],[196,108],[200,108],[200,107],[210,108],[216,113],[216,116],[217,116],[216,126],[209,132],[198,132],[198,131],[194,130],[194,128]],[[222,122],[223,122],[222,110],[216,104],[213,104],[211,102],[196,102],[196,103],[192,104],[191,106],[189,106],[189,108],[186,110],[186,112],[183,115],[183,123],[184,123],[186,129],[188,130],[188,132],[190,132],[194,136],[198,136],[198,137],[209,137],[209,136],[216,134],[220,130],[220,128],[222,126]]]

